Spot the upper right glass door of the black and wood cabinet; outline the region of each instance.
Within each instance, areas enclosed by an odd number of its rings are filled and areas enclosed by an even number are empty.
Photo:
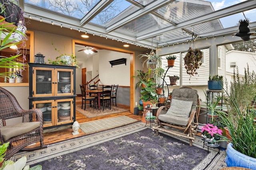
[[[56,96],[65,96],[73,94],[73,70],[72,69],[56,69],[58,90],[55,90]],[[55,74],[55,75],[56,75]]]

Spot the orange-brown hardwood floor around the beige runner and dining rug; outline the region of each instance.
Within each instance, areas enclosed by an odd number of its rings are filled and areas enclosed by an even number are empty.
[[[82,104],[80,97],[77,97],[76,104]],[[118,105],[118,107],[121,107],[124,109],[130,109],[130,106],[124,106],[121,104],[117,104],[117,105]],[[103,115],[103,116],[92,117],[92,118],[85,117],[84,115],[82,115],[81,113],[76,111],[76,121],[78,121],[78,123],[84,123],[84,122],[95,121],[95,120],[99,120],[99,119],[106,119],[106,118],[110,118],[110,117],[118,117],[118,116],[122,116],[122,115],[131,117],[133,119],[141,120],[140,115],[134,115],[133,113],[130,113],[130,111],[122,112],[122,113],[113,113],[110,115]],[[80,133],[78,135],[72,135],[72,131],[73,130],[71,128],[68,128],[68,129],[62,129],[59,131],[52,131],[52,132],[44,133],[44,145],[49,145],[52,143],[56,143],[56,142],[64,141],[67,139],[72,139],[72,138],[86,135],[83,131],[81,131],[81,129],[79,129]]]

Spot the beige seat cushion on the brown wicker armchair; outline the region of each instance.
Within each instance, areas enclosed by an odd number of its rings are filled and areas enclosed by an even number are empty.
[[[1,130],[1,134],[3,135],[4,141],[7,141],[12,137],[16,137],[18,135],[28,133],[29,131],[36,129],[39,126],[40,126],[39,121],[24,122],[24,123],[18,123],[15,125],[7,125],[4,127],[1,127],[0,130]]]

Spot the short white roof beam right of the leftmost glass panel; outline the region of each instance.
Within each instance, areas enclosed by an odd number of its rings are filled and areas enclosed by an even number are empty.
[[[111,4],[114,0],[101,0],[90,12],[82,18],[80,22],[80,26],[84,26],[90,20],[92,20],[96,15],[98,15],[104,8],[106,8],[109,4]]]

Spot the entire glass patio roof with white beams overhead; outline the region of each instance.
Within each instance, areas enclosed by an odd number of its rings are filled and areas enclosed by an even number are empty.
[[[256,0],[18,0],[27,18],[136,47],[165,48],[192,40],[230,39],[238,21],[256,30]],[[222,4],[223,3],[223,4]],[[219,4],[219,6],[218,6]],[[222,5],[222,6],[220,6]],[[217,8],[217,9],[214,9]],[[196,42],[195,41],[195,42]],[[216,40],[218,41],[218,40]],[[225,43],[230,43],[225,41]],[[170,49],[170,48],[169,48]],[[166,51],[166,50],[164,50]],[[174,51],[168,51],[168,53]]]

